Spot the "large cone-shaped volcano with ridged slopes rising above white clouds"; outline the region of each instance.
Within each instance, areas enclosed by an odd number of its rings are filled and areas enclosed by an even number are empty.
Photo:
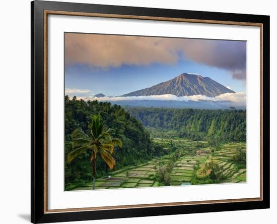
[[[174,79],[152,87],[124,94],[123,96],[150,96],[173,94],[176,96],[206,95],[218,96],[223,93],[234,93],[209,77],[183,73]]]

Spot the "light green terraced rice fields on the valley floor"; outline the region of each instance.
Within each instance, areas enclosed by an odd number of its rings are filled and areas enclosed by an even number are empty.
[[[181,155],[174,162],[171,171],[171,186],[189,185],[193,173],[198,177],[204,177],[209,172],[203,174],[202,169],[205,162],[209,160],[216,161],[223,167],[226,180],[224,183],[246,182],[246,169],[239,169],[232,162],[232,157],[241,148],[246,151],[245,143],[230,143],[222,146],[220,151],[211,153],[207,142],[189,141],[185,139],[154,139],[166,149],[170,149],[174,143],[178,143]],[[96,189],[114,189],[114,188],[136,188],[136,187],[158,187],[164,186],[157,181],[159,166],[168,164],[173,153],[159,158],[153,158],[145,163],[135,166],[125,166],[120,170],[114,171],[109,177],[103,177],[96,180]],[[197,168],[198,167],[198,168]],[[198,169],[198,170],[196,170]],[[74,190],[91,190],[92,183]]]

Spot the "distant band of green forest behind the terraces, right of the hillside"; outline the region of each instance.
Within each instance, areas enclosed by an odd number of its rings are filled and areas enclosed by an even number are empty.
[[[246,110],[125,107],[152,137],[181,137],[216,142],[246,141]]]

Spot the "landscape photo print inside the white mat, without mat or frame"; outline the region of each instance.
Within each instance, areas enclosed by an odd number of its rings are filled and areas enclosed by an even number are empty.
[[[247,182],[246,41],[65,33],[64,47],[64,191]]]

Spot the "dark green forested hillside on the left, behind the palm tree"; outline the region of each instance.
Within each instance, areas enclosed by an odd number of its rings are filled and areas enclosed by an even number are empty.
[[[121,106],[112,105],[109,102],[72,100],[65,96],[65,188],[72,183],[89,181],[92,178],[92,167],[90,154],[84,153],[75,158],[70,164],[67,162],[67,155],[73,150],[72,133],[76,129],[88,132],[88,124],[93,115],[100,115],[101,122],[106,129],[111,128],[112,137],[119,138],[123,146],[116,147],[113,156],[116,160],[115,169],[125,165],[134,165],[154,156],[163,155],[166,151],[150,139],[149,132],[141,122],[125,111]],[[108,166],[102,159],[98,159],[97,177],[109,172]]]

